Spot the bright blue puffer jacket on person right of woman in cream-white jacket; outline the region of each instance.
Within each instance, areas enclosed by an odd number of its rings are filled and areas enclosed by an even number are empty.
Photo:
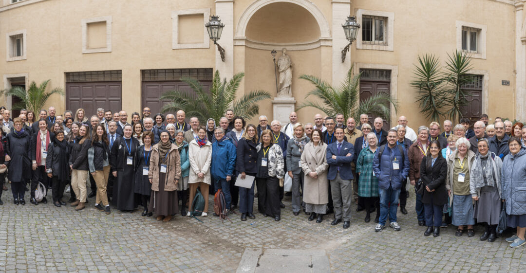
[[[236,146],[228,137],[212,144],[212,166],[210,174],[216,180],[225,180],[227,176],[234,175],[236,166]]]

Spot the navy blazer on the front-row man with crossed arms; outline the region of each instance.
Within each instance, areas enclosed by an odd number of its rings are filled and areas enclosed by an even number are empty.
[[[351,156],[345,156],[348,153]],[[336,159],[332,159],[335,155]],[[338,173],[338,167],[340,167],[340,178],[343,180],[352,180],[355,177],[352,175],[351,162],[355,157],[355,147],[343,141],[340,147],[340,153],[338,153],[338,141],[334,141],[332,144],[327,146],[327,163],[329,164],[329,172],[327,173],[327,179],[336,179]]]

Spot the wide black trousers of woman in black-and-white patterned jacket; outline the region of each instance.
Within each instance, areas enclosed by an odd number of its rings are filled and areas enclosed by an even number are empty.
[[[258,188],[258,210],[272,217],[281,215],[279,206],[279,179],[277,177],[256,178]]]

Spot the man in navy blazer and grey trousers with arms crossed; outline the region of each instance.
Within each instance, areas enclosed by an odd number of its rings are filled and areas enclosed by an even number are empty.
[[[345,136],[343,128],[336,127],[334,134],[336,135],[336,141],[327,146],[327,163],[329,164],[327,178],[330,180],[332,204],[335,210],[335,219],[331,225],[338,225],[343,218],[343,228],[349,228],[351,220],[352,180],[354,179],[351,162],[355,148],[343,139]]]

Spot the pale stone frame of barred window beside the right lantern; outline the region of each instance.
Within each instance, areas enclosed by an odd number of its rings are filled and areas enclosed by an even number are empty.
[[[394,51],[395,47],[395,13],[393,12],[381,12],[381,11],[371,11],[369,9],[362,9],[359,8],[356,11],[356,21],[360,24],[362,24],[362,17],[364,15],[367,16],[375,16],[375,17],[385,17],[386,18],[386,31],[384,35],[385,38],[385,44],[367,44],[362,42],[362,32],[361,29],[358,30],[358,35],[356,35],[356,48],[357,49],[370,49],[370,50],[385,50],[385,51]]]

